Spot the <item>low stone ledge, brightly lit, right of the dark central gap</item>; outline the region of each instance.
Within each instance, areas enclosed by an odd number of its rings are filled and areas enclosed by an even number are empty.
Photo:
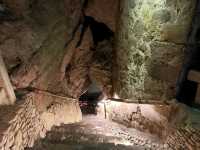
[[[98,105],[98,115],[129,128],[157,135],[163,142],[169,139],[171,134],[178,134],[179,129],[185,130],[191,127],[194,131],[199,131],[200,112],[183,104],[175,101],[168,104],[124,101],[121,99],[101,101]]]

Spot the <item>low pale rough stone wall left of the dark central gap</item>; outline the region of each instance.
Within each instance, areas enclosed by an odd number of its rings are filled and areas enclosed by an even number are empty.
[[[52,126],[80,121],[82,116],[78,102],[66,99],[36,92],[28,94],[25,100],[13,106],[2,106],[0,149],[23,150],[32,147],[35,140],[44,138]],[[38,105],[41,101],[45,103]]]

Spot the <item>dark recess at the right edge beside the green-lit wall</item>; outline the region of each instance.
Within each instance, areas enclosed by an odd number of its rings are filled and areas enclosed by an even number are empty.
[[[198,2],[199,5],[199,2]],[[198,6],[197,5],[197,6]],[[198,7],[196,10],[198,11]],[[200,16],[194,15],[193,24],[187,39],[185,62],[177,81],[176,98],[188,106],[200,108]]]

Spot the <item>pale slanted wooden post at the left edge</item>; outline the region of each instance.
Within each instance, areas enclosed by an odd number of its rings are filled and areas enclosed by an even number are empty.
[[[16,96],[8,76],[6,66],[0,53],[0,80],[1,80],[1,96],[0,105],[11,105],[16,101]]]

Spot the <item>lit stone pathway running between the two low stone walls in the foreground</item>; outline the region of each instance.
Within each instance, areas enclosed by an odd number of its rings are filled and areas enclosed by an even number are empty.
[[[165,147],[166,146],[166,147]],[[54,127],[45,139],[27,150],[150,150],[167,149],[159,138],[126,128],[97,116],[84,116],[83,121]]]

